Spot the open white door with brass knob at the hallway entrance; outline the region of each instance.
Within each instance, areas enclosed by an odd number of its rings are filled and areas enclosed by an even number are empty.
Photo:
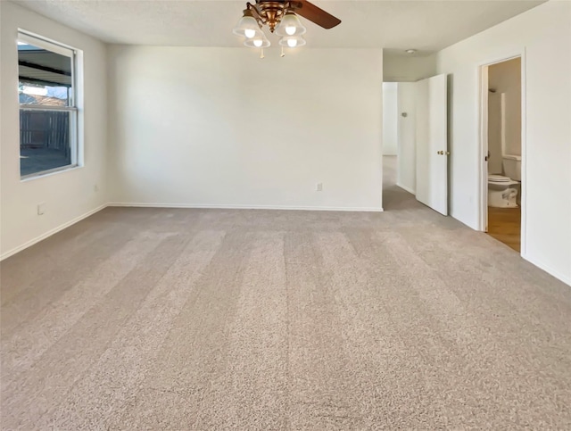
[[[417,199],[448,215],[446,75],[422,79],[417,94]]]

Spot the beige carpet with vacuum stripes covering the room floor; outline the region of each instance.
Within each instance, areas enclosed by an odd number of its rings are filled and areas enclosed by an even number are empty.
[[[4,261],[2,428],[570,429],[571,287],[385,209],[110,208]]]

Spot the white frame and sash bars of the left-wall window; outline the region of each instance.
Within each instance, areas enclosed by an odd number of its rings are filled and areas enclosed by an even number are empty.
[[[83,165],[82,161],[82,143],[83,139],[80,137],[79,131],[82,129],[81,123],[81,110],[79,102],[82,101],[82,70],[80,60],[82,53],[71,46],[66,46],[60,42],[30,33],[29,31],[19,29],[18,41],[27,43],[29,45],[37,46],[46,49],[56,54],[61,54],[70,57],[71,60],[71,91],[70,91],[70,106],[51,106],[51,105],[37,105],[37,104],[20,104],[19,111],[54,111],[54,112],[70,112],[70,164],[60,166],[51,170],[40,170],[28,175],[21,175],[21,181],[40,178],[46,175],[62,172],[65,170],[72,170]],[[20,129],[20,126],[19,126]],[[20,151],[18,153],[20,155]]]

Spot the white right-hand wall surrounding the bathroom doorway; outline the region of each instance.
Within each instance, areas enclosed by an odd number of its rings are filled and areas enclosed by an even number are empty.
[[[480,227],[478,66],[525,54],[525,259],[571,284],[571,3],[550,1],[438,53],[451,74],[451,215]]]

